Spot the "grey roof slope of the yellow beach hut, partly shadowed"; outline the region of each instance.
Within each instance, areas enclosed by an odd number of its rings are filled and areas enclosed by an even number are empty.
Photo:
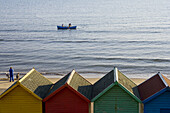
[[[42,99],[45,98],[53,84],[34,68],[23,76],[19,82]]]

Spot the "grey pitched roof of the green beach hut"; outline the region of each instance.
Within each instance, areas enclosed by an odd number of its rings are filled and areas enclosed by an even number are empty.
[[[136,84],[130,80],[128,77],[126,77],[124,74],[122,74],[116,67],[107,73],[105,76],[103,76],[100,80],[98,80],[93,85],[93,94],[92,98],[99,95],[103,90],[110,87],[111,84],[118,82],[123,87],[125,87],[130,93],[133,94],[132,88],[136,86]]]

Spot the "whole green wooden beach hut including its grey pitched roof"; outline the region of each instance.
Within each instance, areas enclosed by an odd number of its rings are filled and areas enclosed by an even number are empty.
[[[94,113],[142,113],[132,91],[136,84],[114,68],[93,85]]]

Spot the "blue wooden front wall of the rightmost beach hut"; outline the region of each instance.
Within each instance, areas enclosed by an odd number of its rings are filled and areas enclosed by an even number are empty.
[[[170,90],[145,103],[144,113],[170,113]]]

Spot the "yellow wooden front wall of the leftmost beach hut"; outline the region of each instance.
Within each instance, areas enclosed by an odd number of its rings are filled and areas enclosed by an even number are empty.
[[[42,101],[18,85],[0,98],[0,113],[42,113]]]

